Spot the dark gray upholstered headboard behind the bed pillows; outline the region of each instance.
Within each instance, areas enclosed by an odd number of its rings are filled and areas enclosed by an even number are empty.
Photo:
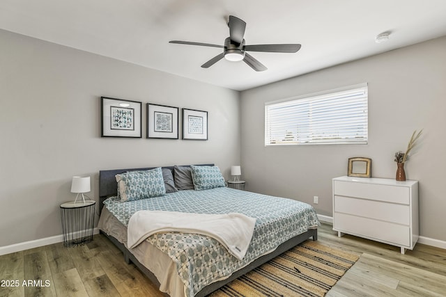
[[[183,166],[190,166],[190,165],[183,165]],[[214,166],[214,164],[197,164],[197,166]],[[100,170],[99,171],[100,209],[102,209],[102,202],[105,199],[109,198],[110,196],[114,196],[118,193],[118,184],[116,183],[115,175],[128,171],[150,170],[153,168],[156,167]],[[174,166],[163,166],[162,168],[170,169],[172,171],[172,175],[174,175]]]

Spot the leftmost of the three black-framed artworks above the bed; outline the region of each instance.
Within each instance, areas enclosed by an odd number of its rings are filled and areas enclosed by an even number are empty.
[[[100,136],[141,138],[141,102],[100,97]]]

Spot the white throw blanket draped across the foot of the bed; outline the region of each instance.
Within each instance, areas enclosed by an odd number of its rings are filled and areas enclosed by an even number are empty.
[[[141,210],[128,222],[128,246],[134,248],[160,232],[196,233],[220,241],[237,259],[243,259],[252,239],[256,219],[244,214],[187,214]]]

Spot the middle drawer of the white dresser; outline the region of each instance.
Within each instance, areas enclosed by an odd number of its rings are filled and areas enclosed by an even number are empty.
[[[410,225],[408,205],[334,195],[334,211],[401,225]]]

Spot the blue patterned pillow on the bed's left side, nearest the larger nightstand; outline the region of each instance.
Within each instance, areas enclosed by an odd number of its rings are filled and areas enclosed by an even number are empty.
[[[121,202],[157,197],[166,193],[160,167],[124,172],[116,175],[116,182],[118,182],[118,197]]]

